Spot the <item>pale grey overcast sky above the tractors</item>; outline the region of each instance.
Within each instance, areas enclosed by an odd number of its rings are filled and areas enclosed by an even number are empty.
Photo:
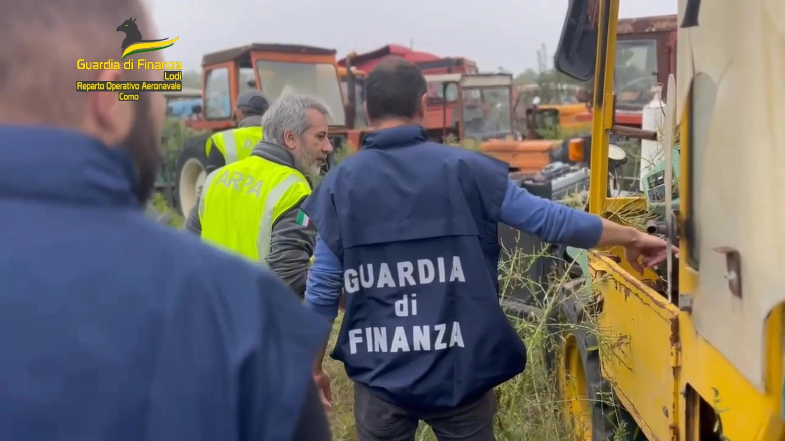
[[[202,55],[251,42],[338,50],[338,59],[389,43],[465,56],[480,71],[537,67],[556,48],[568,0],[147,0],[161,33],[180,37],[166,60],[199,69]],[[677,0],[622,0],[619,16],[676,13]]]

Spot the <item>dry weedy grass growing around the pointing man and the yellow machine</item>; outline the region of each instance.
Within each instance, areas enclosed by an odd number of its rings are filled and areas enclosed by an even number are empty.
[[[564,201],[568,205],[581,206],[585,203],[582,199]],[[642,228],[645,221],[651,217],[649,213],[624,212],[612,213],[612,217],[626,224]],[[524,255],[520,251],[508,253],[502,257],[499,264],[499,288],[502,293],[508,293],[516,286],[528,285],[544,292],[539,308],[542,317],[539,319],[522,320],[510,317],[510,321],[517,329],[520,337],[528,348],[528,364],[526,370],[512,380],[495,389],[497,398],[497,414],[495,417],[496,439],[506,441],[564,441],[571,439],[571,423],[564,417],[563,399],[557,390],[556,374],[546,366],[546,352],[558,348],[562,335],[575,330],[585,330],[597,337],[598,349],[601,353],[613,354],[618,351],[619,341],[624,337],[614,330],[599,329],[595,317],[586,316],[580,324],[553,323],[547,319],[555,315],[564,301],[563,286],[570,282],[567,272],[561,273],[559,279],[551,279],[549,286],[535,286],[535,282],[524,279],[520,274],[526,272],[528,266],[542,256]],[[592,280],[583,286],[582,290],[571,294],[581,297],[582,303],[590,304],[595,298],[597,286],[602,280]],[[334,325],[333,335],[330,338],[329,349],[333,348],[336,334],[341,326],[339,315]],[[333,436],[336,441],[354,441],[352,383],[345,375],[341,363],[325,358],[325,369],[332,378],[333,411],[330,421]],[[623,410],[615,409],[615,400],[612,396],[598,397],[611,409],[611,419],[615,420],[617,428],[614,439],[634,439],[639,436],[637,430],[628,430],[630,420],[623,417]],[[632,432],[633,436],[628,436]],[[421,423],[418,430],[418,441],[436,441],[433,432]]]

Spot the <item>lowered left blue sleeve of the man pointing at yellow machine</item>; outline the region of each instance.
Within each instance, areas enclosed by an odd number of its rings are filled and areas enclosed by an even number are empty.
[[[305,307],[333,323],[338,315],[342,285],[343,262],[335,256],[322,237],[317,235],[313,265],[305,286]]]

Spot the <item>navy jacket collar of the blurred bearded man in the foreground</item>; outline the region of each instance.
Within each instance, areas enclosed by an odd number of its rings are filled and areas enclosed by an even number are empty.
[[[70,129],[0,125],[0,197],[141,208],[122,148]]]

